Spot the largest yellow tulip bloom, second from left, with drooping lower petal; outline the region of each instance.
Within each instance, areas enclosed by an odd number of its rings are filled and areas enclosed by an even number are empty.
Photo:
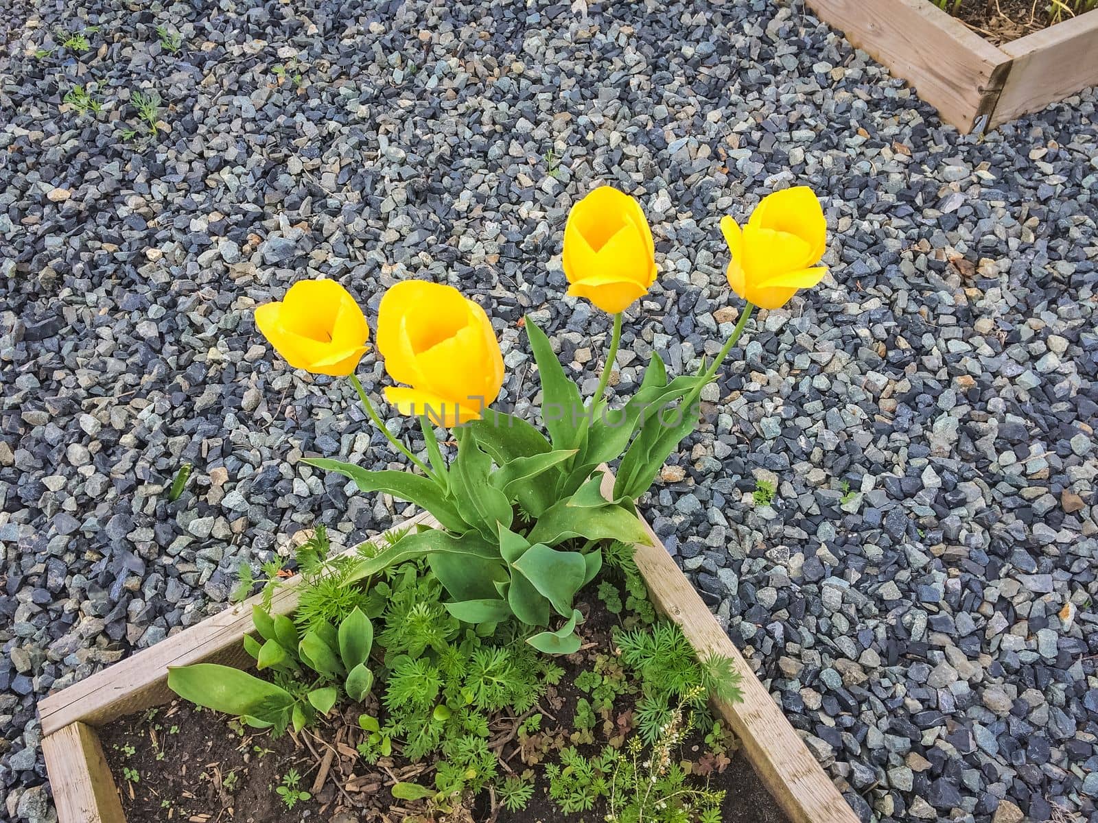
[[[450,285],[405,280],[378,307],[378,351],[397,383],[385,399],[439,426],[477,420],[500,396],[503,356],[484,309]]]

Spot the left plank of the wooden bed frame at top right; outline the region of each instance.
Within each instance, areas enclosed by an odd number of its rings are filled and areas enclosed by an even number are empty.
[[[964,133],[995,109],[1010,56],[928,0],[807,0]]]

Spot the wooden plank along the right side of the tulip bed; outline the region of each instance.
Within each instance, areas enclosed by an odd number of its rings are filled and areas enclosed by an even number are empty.
[[[609,496],[613,486],[614,477],[606,472],[603,494]],[[641,522],[651,544],[638,543],[634,556],[652,601],[682,627],[683,634],[699,655],[716,652],[731,657],[743,676],[743,702],[716,700],[715,706],[742,742],[759,779],[791,823],[858,823],[858,815],[675,565],[656,532],[643,518]]]

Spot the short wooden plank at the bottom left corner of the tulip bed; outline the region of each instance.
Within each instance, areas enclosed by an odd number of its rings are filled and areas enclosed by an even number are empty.
[[[126,823],[96,730],[69,723],[42,739],[58,823]]]

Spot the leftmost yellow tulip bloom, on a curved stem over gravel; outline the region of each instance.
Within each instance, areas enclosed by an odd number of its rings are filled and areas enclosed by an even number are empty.
[[[301,280],[285,296],[256,308],[256,326],[294,369],[345,376],[367,351],[370,327],[334,280]]]

